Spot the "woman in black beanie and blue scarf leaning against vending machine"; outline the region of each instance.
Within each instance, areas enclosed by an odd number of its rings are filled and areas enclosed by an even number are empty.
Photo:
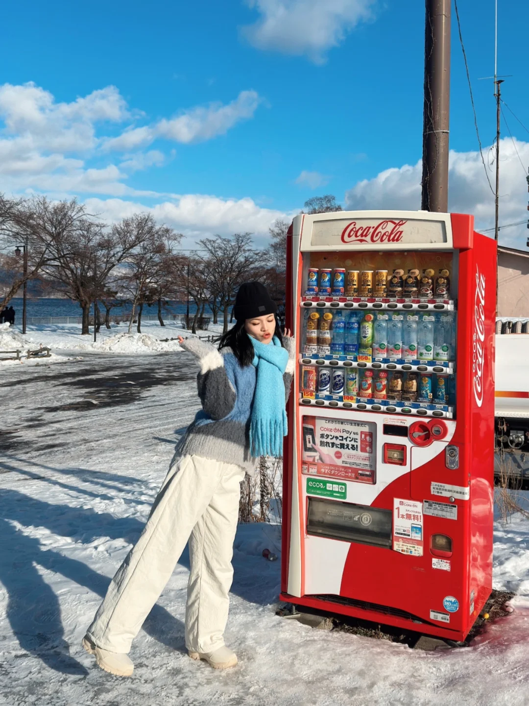
[[[130,676],[127,656],[189,539],[185,641],[189,657],[215,669],[237,664],[224,644],[240,483],[261,455],[279,456],[287,433],[285,400],[294,341],[281,336],[277,306],[260,282],[235,299],[236,325],[219,350],[179,337],[198,358],[200,412],[177,445],[136,546],[109,585],[83,647],[111,674]],[[285,394],[286,393],[286,394]]]

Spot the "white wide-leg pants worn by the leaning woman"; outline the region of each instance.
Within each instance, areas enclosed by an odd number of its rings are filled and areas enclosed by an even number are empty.
[[[188,539],[186,647],[213,652],[224,645],[242,479],[240,466],[199,456],[177,458],[136,546],[117,570],[88,628],[97,647],[129,652]]]

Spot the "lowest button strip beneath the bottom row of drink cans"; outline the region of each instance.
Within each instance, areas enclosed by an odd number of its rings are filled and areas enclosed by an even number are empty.
[[[319,395],[318,393],[314,397],[303,397],[303,395],[300,395],[299,403],[306,407],[358,409],[362,412],[387,412],[388,414],[406,414],[412,417],[439,417],[444,419],[453,419],[454,412],[454,408],[448,407],[448,405],[432,405],[427,402],[376,400],[363,397],[344,400],[343,395]]]

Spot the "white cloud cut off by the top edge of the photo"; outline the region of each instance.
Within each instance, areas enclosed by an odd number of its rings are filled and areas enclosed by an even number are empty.
[[[343,42],[362,20],[373,17],[376,0],[246,0],[260,14],[253,25],[242,28],[258,49],[283,54],[307,54],[316,64],[325,53]]]

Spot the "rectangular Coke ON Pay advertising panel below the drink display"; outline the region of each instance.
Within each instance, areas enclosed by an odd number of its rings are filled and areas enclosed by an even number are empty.
[[[302,473],[374,484],[375,470],[374,422],[303,417]]]

